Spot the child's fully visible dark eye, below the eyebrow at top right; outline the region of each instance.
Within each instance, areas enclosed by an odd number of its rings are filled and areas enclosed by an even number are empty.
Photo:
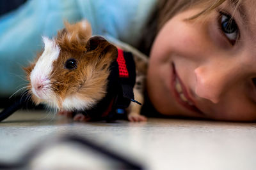
[[[226,13],[220,12],[220,29],[230,43],[234,45],[239,37],[239,29],[234,18]]]

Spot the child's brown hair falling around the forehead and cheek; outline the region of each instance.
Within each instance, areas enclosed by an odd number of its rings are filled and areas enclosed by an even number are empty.
[[[147,28],[145,29],[141,43],[141,52],[149,55],[150,48],[157,32],[163,27],[163,25],[174,15],[189,8],[195,8],[197,6],[203,7],[204,10],[200,11],[194,16],[188,16],[188,20],[193,20],[199,16],[205,15],[227,0],[158,0],[156,11],[150,17]],[[241,0],[229,0],[234,1],[235,4],[239,4]]]

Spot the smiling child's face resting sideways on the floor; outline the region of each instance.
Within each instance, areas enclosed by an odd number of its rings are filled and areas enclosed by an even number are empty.
[[[202,10],[196,9],[166,22],[148,69],[148,95],[157,111],[256,120],[256,3],[242,3],[235,13],[228,1],[207,18],[184,21]]]

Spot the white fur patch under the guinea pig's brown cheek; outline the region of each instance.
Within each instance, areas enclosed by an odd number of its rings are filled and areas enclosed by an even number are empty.
[[[67,97],[63,101],[64,110],[86,110],[92,108],[95,105],[95,101],[85,101],[79,99],[77,96]]]

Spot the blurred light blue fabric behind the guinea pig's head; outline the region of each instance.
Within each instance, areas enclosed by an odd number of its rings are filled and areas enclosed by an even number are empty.
[[[52,37],[63,20],[86,18],[93,34],[111,36],[132,46],[157,0],[30,0],[0,17],[0,95],[26,86],[22,66],[42,49],[42,36]],[[21,76],[21,77],[19,77]]]

